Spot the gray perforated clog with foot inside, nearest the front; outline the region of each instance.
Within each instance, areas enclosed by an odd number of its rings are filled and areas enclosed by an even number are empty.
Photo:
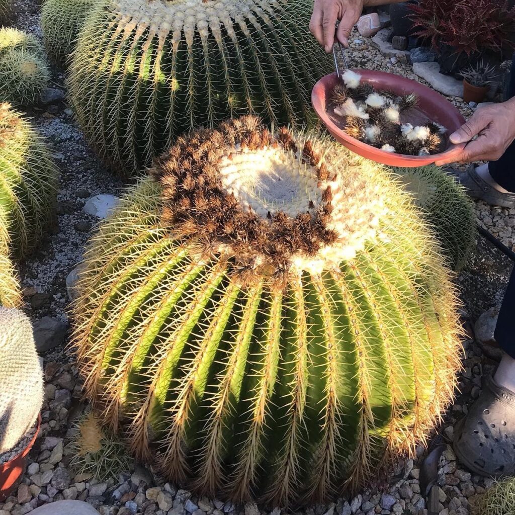
[[[468,469],[482,476],[515,475],[515,394],[492,377],[454,430],[454,452]]]

